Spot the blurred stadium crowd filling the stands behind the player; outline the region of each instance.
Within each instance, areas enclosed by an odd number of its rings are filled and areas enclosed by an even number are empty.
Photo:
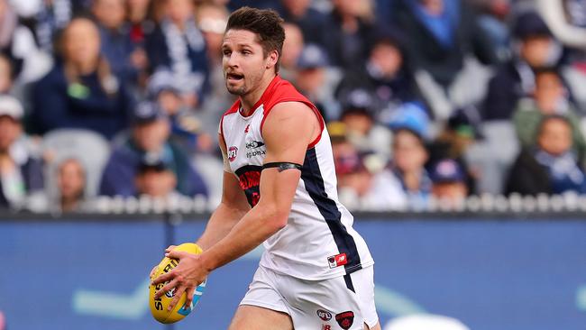
[[[350,209],[586,193],[586,0],[0,0],[0,207],[216,205],[242,5],[285,19]]]

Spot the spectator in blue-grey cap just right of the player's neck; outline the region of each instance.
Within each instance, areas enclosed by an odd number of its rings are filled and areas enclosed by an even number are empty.
[[[316,44],[307,44],[298,58],[295,87],[313,102],[325,122],[339,117],[339,105],[334,98],[335,75],[328,69],[325,50]]]

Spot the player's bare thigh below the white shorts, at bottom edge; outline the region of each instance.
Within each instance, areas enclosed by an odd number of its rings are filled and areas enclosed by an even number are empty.
[[[268,308],[241,305],[229,330],[293,330],[291,317]]]

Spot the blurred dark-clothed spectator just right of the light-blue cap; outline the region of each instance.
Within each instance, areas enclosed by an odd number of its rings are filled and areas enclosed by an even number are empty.
[[[480,123],[481,117],[475,107],[457,109],[435,140],[427,147],[429,151],[427,169],[433,170],[435,164],[444,159],[455,160],[458,163],[458,169],[465,174],[467,191],[471,193],[476,192],[478,174],[468,165],[465,154],[473,143],[482,138]]]

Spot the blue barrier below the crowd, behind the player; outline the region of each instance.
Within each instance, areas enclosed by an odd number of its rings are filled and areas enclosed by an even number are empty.
[[[169,237],[205,222],[96,218],[0,221],[0,311],[9,330],[165,329],[147,306],[148,273]],[[201,220],[201,219],[199,219]],[[550,219],[361,218],[376,260],[382,325],[451,316],[474,330],[579,330],[586,325],[586,222]],[[216,270],[197,309],[174,329],[225,329],[261,250]]]

